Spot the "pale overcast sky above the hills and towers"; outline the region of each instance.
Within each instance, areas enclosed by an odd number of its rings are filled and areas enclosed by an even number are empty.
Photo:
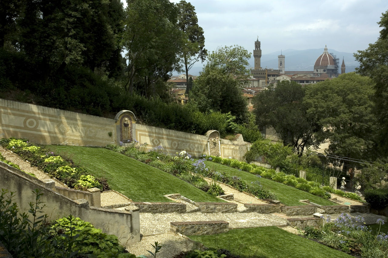
[[[387,0],[186,1],[196,8],[210,52],[225,45],[253,52],[259,36],[262,54],[323,49],[325,44],[329,50],[353,53],[376,41],[380,31],[376,22],[388,9]]]

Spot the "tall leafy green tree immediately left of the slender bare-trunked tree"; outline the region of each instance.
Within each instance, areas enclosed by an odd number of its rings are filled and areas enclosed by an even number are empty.
[[[127,92],[147,97],[158,82],[167,81],[170,72],[180,70],[178,53],[184,43],[178,29],[178,8],[168,0],[129,0],[126,9],[124,47],[128,51]]]

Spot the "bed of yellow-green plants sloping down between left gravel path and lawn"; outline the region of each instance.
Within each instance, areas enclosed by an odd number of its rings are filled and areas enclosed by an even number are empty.
[[[55,155],[47,150],[45,146],[33,144],[27,139],[15,138],[3,138],[0,140],[0,144],[24,160],[28,160],[32,166],[38,167],[43,172],[49,174],[50,177],[55,177],[70,188],[86,190],[97,187],[101,191],[109,190],[106,179],[95,178],[85,168],[75,166],[72,160]],[[16,168],[20,169],[17,165]]]

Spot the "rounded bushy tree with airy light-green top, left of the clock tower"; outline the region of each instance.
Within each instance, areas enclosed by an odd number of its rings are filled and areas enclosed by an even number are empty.
[[[236,116],[236,122],[246,122],[248,110],[241,85],[249,57],[250,53],[240,46],[225,46],[213,51],[200,76],[194,81],[189,94],[191,103],[201,112],[230,112]]]

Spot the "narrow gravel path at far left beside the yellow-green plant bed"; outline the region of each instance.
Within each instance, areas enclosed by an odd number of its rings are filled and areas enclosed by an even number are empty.
[[[2,146],[0,146],[0,152],[6,160],[15,163],[20,167],[21,170],[34,174],[39,180],[43,181],[45,179],[52,179],[55,181],[55,186],[67,187],[65,184],[58,181],[57,179],[53,179],[45,172],[40,171],[37,167],[31,167],[31,164],[29,162],[24,161],[16,153],[13,153],[12,151],[3,148]]]

